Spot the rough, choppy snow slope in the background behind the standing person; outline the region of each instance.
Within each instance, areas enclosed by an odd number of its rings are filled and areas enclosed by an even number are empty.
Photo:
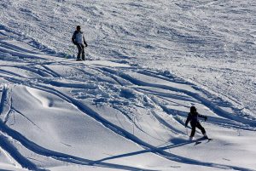
[[[42,52],[71,57],[81,25],[89,58],[172,71],[255,117],[255,7],[254,0],[2,0],[0,28],[30,37],[23,41]],[[20,58],[32,51],[8,41],[0,48]]]

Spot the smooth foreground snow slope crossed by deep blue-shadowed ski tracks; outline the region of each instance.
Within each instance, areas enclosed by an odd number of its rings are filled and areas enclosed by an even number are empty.
[[[1,169],[255,168],[255,118],[229,101],[168,71],[76,62],[0,33]],[[188,141],[191,105],[208,116],[202,124],[211,142],[195,145],[200,132]]]

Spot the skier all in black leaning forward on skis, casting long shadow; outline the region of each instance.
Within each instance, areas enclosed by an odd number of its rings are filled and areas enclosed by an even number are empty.
[[[195,106],[191,106],[189,115],[188,115],[186,123],[185,123],[185,127],[188,126],[189,122],[190,122],[190,125],[191,125],[191,134],[189,136],[189,140],[193,140],[193,137],[195,135],[195,128],[199,128],[201,130],[201,133],[204,135],[204,138],[208,139],[206,130],[205,130],[205,128],[203,128],[201,126],[201,123],[199,122],[198,117],[203,117],[205,119],[205,121],[207,121],[206,116],[199,114],[196,111]]]

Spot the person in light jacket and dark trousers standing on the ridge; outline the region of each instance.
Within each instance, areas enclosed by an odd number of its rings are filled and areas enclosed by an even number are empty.
[[[85,55],[84,55],[84,46],[87,47],[87,43],[85,42],[84,34],[81,31],[81,27],[77,26],[77,30],[74,31],[73,37],[72,37],[72,42],[77,45],[79,49],[79,54],[77,56],[77,60],[85,60]],[[81,59],[81,54],[82,54],[82,59]]]

